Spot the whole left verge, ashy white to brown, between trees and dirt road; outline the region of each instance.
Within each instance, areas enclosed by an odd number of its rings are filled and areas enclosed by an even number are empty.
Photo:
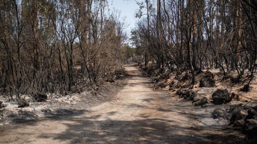
[[[21,96],[18,102],[8,101],[7,96],[0,96],[0,123],[1,125],[15,125],[15,122],[35,120],[51,115],[61,115],[85,110],[102,102],[115,99],[119,88],[124,81],[124,67],[113,71],[112,77],[115,82],[103,81],[94,87],[84,87],[68,95],[40,94],[36,99]],[[35,96],[36,97],[36,96]]]

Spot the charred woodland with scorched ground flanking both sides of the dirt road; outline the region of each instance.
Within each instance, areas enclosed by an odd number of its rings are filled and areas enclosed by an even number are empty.
[[[213,118],[254,136],[256,2],[145,0],[138,5],[131,48],[124,44],[124,20],[107,10],[106,0],[4,0],[3,118],[32,117],[33,111],[42,114],[54,103],[65,107],[84,98],[91,104],[108,99],[101,92],[122,77],[122,64],[132,58],[150,77],[154,91],[169,90],[193,106],[213,106]]]

